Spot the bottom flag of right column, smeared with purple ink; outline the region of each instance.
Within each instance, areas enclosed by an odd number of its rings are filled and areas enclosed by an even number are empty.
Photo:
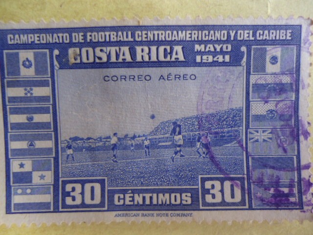
[[[252,184],[252,201],[255,208],[299,207],[296,183],[262,182]]]

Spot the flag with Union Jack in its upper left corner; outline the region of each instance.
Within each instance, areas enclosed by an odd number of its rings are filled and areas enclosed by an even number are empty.
[[[296,136],[294,129],[249,129],[249,154],[296,154]]]

